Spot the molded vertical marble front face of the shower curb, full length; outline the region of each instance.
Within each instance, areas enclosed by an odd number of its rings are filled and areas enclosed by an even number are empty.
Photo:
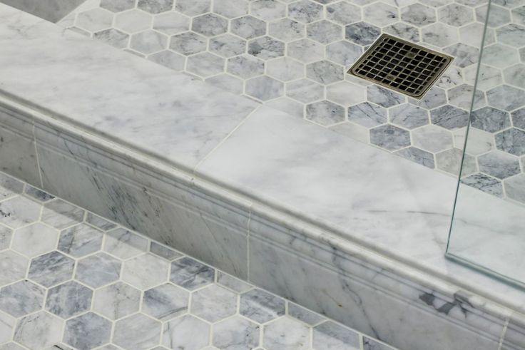
[[[63,120],[0,105],[1,170],[31,185],[400,349],[525,346],[519,312]]]

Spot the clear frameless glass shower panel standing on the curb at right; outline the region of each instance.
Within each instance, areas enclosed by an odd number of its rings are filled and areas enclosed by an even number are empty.
[[[525,6],[489,3],[447,257],[525,287]]]

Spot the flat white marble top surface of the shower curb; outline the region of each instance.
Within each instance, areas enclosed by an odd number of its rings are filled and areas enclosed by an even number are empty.
[[[0,47],[4,98],[525,311],[444,259],[454,178],[3,4]]]

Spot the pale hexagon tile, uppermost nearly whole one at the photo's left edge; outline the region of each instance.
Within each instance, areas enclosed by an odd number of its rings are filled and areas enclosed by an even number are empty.
[[[17,228],[39,220],[40,206],[26,197],[14,197],[0,202],[0,222]]]

